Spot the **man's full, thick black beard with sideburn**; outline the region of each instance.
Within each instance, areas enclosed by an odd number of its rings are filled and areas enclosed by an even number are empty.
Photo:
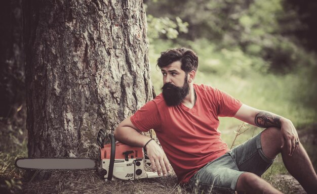
[[[187,82],[187,76],[182,87],[177,87],[171,83],[166,83],[162,87],[162,93],[167,106],[179,105],[189,93],[189,84]]]

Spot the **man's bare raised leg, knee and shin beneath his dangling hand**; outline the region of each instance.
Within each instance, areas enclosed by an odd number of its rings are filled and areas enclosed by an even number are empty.
[[[261,145],[264,155],[273,159],[281,153],[285,167],[290,174],[298,180],[307,193],[315,193],[317,190],[317,175],[305,149],[300,143],[293,155],[289,156],[286,145],[281,149],[281,136],[282,133],[279,128],[270,127],[262,132]]]

